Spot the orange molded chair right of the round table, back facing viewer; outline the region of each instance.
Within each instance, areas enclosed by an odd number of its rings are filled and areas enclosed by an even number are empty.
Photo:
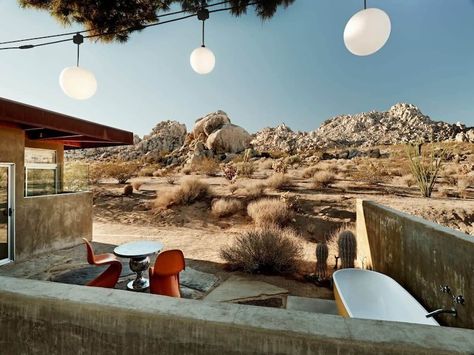
[[[180,298],[179,273],[185,266],[181,250],[167,250],[158,254],[154,267],[149,269],[150,293]]]

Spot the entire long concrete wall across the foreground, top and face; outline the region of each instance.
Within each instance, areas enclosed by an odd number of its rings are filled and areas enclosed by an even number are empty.
[[[472,354],[474,331],[0,277],[15,354]]]

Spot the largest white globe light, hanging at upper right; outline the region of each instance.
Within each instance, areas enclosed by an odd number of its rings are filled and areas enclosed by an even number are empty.
[[[380,9],[366,9],[351,17],[344,29],[344,43],[355,55],[367,56],[380,50],[390,37],[390,17]]]

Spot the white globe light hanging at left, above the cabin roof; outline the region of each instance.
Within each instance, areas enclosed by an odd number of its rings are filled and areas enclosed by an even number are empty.
[[[86,100],[97,91],[94,74],[81,67],[64,68],[59,75],[59,85],[67,96],[76,100]]]

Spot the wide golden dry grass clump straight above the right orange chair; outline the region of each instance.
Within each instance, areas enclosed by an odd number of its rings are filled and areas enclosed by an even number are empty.
[[[155,206],[168,208],[173,205],[189,205],[195,201],[209,198],[211,190],[209,184],[194,177],[188,177],[181,185],[171,190],[157,193]]]

